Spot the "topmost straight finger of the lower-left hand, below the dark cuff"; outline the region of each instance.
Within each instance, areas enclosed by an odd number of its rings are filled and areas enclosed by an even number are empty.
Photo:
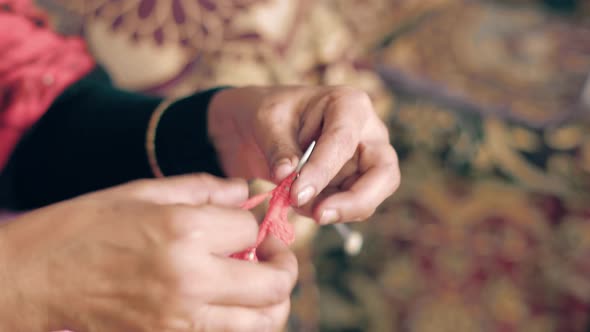
[[[162,205],[238,206],[248,199],[245,180],[221,179],[206,173],[140,180],[122,189],[127,195]]]

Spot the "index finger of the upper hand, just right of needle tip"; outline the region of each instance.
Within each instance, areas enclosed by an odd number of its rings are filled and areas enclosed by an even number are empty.
[[[320,193],[354,156],[372,112],[369,97],[356,90],[335,90],[325,99],[310,111],[324,114],[324,127],[313,154],[291,189],[297,206],[305,205]]]

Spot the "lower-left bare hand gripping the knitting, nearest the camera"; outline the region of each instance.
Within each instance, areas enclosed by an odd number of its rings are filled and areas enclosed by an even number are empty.
[[[0,330],[273,331],[297,276],[280,241],[260,263],[245,182],[193,175],[81,196],[0,228]]]

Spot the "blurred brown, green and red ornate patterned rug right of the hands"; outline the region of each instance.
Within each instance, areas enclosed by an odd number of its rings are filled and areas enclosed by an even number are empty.
[[[587,331],[590,24],[516,2],[438,8],[377,53],[402,186],[360,256],[319,233],[321,330]]]

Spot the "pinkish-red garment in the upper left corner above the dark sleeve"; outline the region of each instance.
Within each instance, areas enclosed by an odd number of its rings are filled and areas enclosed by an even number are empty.
[[[93,67],[82,39],[53,32],[30,0],[0,0],[0,170],[23,133]]]

